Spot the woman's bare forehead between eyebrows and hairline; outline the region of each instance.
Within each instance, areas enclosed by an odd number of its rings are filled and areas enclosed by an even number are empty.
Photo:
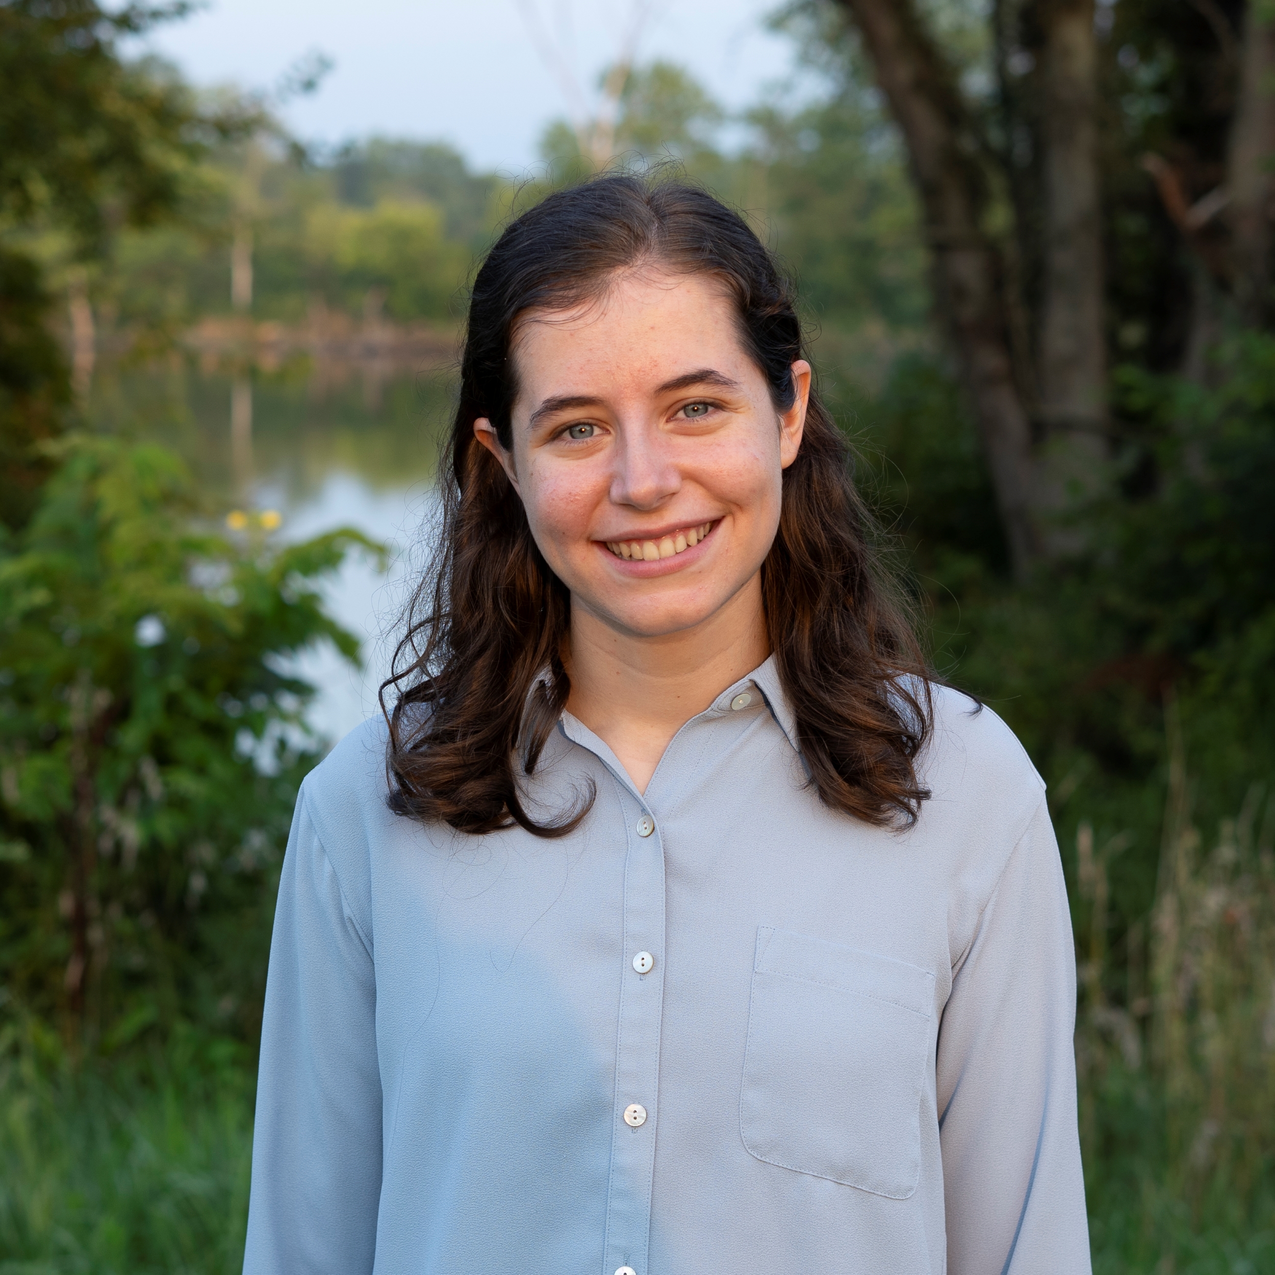
[[[510,353],[519,400],[562,393],[564,380],[663,382],[694,367],[751,366],[720,280],[652,270],[629,272],[584,305],[527,312]]]

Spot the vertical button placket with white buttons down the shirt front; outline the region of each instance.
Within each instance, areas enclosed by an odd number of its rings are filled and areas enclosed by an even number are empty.
[[[626,803],[627,805],[627,803]],[[631,810],[632,807],[630,807]],[[652,815],[626,815],[623,951],[604,1275],[646,1270],[655,1164],[664,945],[664,847]],[[634,973],[643,977],[636,978]]]

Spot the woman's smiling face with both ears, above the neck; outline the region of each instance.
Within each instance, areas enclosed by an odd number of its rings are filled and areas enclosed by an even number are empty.
[[[724,612],[755,623],[810,365],[793,365],[798,393],[780,412],[722,287],[655,272],[597,305],[529,315],[513,357],[513,450],[487,421],[474,431],[571,592],[572,626],[588,616],[657,638]]]

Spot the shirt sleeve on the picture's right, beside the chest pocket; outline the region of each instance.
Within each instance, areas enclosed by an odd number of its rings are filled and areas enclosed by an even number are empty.
[[[1084,1275],[1076,964],[1042,801],[952,983],[937,1086],[949,1275]]]

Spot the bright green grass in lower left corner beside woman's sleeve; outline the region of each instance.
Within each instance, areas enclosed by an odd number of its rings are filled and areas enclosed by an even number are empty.
[[[252,1112],[238,1051],[178,1033],[161,1060],[70,1070],[47,1040],[15,1044],[0,1065],[0,1272],[240,1271]]]

